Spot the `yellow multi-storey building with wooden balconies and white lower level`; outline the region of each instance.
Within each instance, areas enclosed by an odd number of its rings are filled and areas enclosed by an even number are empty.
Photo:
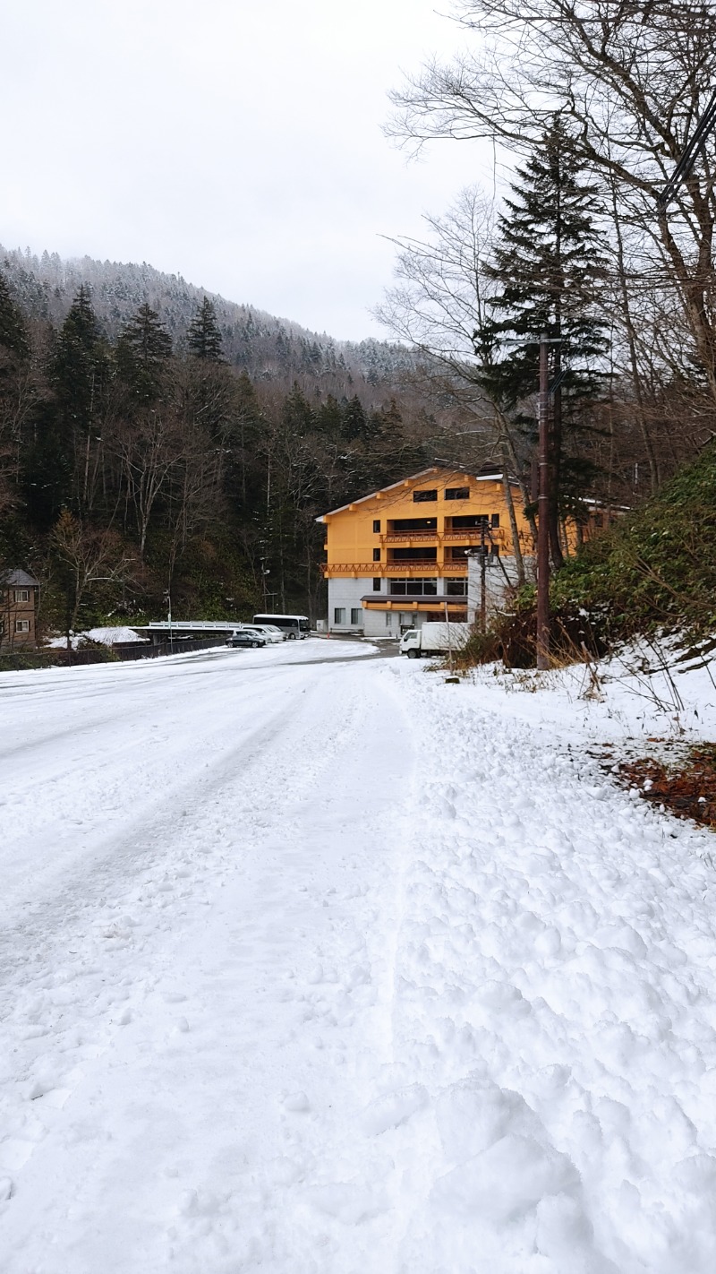
[[[523,499],[516,483],[511,489],[521,550],[530,558]],[[388,637],[445,615],[467,620],[468,555],[482,545],[491,577],[499,573],[506,582],[506,572],[514,578],[500,473],[425,469],[318,521],[326,526],[331,632]]]

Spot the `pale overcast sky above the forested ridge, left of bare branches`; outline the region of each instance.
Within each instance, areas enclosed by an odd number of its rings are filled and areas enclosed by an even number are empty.
[[[337,338],[387,335],[380,236],[490,155],[382,134],[387,93],[464,36],[449,0],[5,0],[0,242],[148,261]]]

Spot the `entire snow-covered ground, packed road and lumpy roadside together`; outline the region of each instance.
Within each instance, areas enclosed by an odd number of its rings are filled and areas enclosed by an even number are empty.
[[[0,675],[4,1274],[716,1268],[713,685],[366,654]]]

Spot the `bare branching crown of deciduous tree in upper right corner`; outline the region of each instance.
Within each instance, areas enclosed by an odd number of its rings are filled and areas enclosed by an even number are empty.
[[[716,82],[716,9],[702,0],[459,0],[477,51],[431,62],[394,94],[390,131],[490,138],[525,153],[560,111],[580,152],[638,232],[638,269],[675,293],[716,401],[716,143],[669,209],[657,196]]]

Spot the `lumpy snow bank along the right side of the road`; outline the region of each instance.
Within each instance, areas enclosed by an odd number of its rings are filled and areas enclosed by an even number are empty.
[[[574,687],[398,675],[430,740],[382,1080],[426,1092],[389,1148],[398,1268],[707,1274],[712,837],[604,781]],[[646,725],[622,693],[622,726]],[[613,705],[595,707],[582,743],[613,735]]]

